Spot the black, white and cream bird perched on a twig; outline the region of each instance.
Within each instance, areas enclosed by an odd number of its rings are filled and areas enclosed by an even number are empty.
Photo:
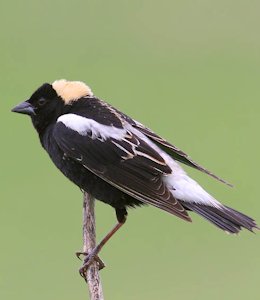
[[[81,274],[125,223],[131,207],[152,205],[188,222],[195,212],[231,234],[259,229],[254,219],[211,196],[181,164],[229,183],[96,97],[82,81],[44,83],[12,111],[30,116],[42,147],[70,181],[115,209],[117,224],[86,255]]]

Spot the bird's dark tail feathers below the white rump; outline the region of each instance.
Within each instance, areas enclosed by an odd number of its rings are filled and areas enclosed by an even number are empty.
[[[238,233],[242,228],[246,228],[250,231],[253,231],[254,228],[259,229],[252,218],[228,206],[223,205],[217,208],[198,203],[180,202],[186,209],[196,212],[228,233]]]

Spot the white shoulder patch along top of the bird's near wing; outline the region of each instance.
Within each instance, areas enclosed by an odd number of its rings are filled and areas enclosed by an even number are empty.
[[[124,129],[102,125],[92,119],[76,114],[62,115],[58,118],[57,122],[62,122],[66,127],[77,131],[83,136],[90,135],[91,133],[92,139],[106,140],[107,138],[114,138],[120,140],[126,134],[126,130]]]

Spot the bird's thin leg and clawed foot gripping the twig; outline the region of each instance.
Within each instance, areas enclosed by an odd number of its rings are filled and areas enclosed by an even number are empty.
[[[112,230],[109,231],[109,233],[101,240],[101,242],[90,253],[87,254],[87,256],[84,259],[83,266],[79,269],[79,273],[82,277],[84,277],[84,274],[86,273],[87,269],[89,268],[89,266],[92,264],[94,260],[96,260],[99,263],[100,269],[102,269],[102,266],[104,267],[104,263],[98,257],[98,253],[101,251],[104,245],[110,240],[110,238],[124,225],[126,221],[126,215],[127,212],[125,209],[120,209],[120,210],[116,209],[116,216],[117,216],[118,223]],[[76,253],[78,257],[80,256],[80,254],[86,255],[86,253],[80,253],[80,252]]]

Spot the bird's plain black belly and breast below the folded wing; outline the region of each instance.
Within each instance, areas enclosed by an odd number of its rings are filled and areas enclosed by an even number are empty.
[[[96,176],[79,162],[67,157],[53,139],[45,136],[42,145],[56,167],[80,189],[91,194],[95,199],[105,202],[116,209],[134,207],[144,203],[113,187]]]

